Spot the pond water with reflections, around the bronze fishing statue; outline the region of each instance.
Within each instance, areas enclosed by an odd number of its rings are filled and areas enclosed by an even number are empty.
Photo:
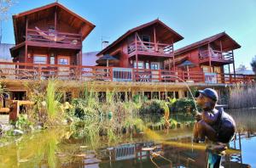
[[[232,109],[239,133],[223,157],[224,167],[256,167],[256,109]],[[140,132],[86,143],[75,138],[71,127],[63,126],[22,137],[4,137],[0,143],[0,167],[207,167],[203,144],[191,143],[192,127]],[[165,141],[157,142],[155,137]],[[183,145],[180,144],[183,143]],[[148,150],[154,148],[150,160]],[[160,154],[160,155],[157,155]]]

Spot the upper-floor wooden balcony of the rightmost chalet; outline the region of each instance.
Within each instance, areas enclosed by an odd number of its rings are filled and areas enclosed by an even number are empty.
[[[199,52],[199,60],[201,64],[208,64],[209,61],[212,65],[231,64],[234,61],[234,54],[232,51],[204,50]]]

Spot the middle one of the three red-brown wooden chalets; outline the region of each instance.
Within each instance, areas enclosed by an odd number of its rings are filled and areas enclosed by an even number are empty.
[[[113,55],[119,59],[112,64],[116,67],[163,70],[164,60],[173,59],[173,44],[182,39],[160,20],[153,20],[127,31],[97,56]]]

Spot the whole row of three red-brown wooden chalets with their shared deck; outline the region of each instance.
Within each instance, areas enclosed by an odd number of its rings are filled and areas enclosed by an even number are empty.
[[[90,21],[60,3],[13,16],[15,47],[13,62],[0,62],[0,80],[10,98],[27,94],[27,83],[53,77],[62,81],[63,92],[77,97],[79,88],[95,92],[117,91],[148,98],[182,98],[190,87],[223,88],[236,82],[251,82],[253,76],[224,70],[233,64],[233,50],[241,46],[226,33],[208,37],[174,50],[183,36],[160,20],[125,32],[97,53],[96,66],[82,64],[82,42],[95,28]]]

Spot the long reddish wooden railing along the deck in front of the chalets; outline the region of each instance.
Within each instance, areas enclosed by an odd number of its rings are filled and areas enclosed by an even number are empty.
[[[184,70],[148,70],[119,67],[0,62],[0,79],[74,81],[141,81],[190,83],[252,83],[255,76]]]

